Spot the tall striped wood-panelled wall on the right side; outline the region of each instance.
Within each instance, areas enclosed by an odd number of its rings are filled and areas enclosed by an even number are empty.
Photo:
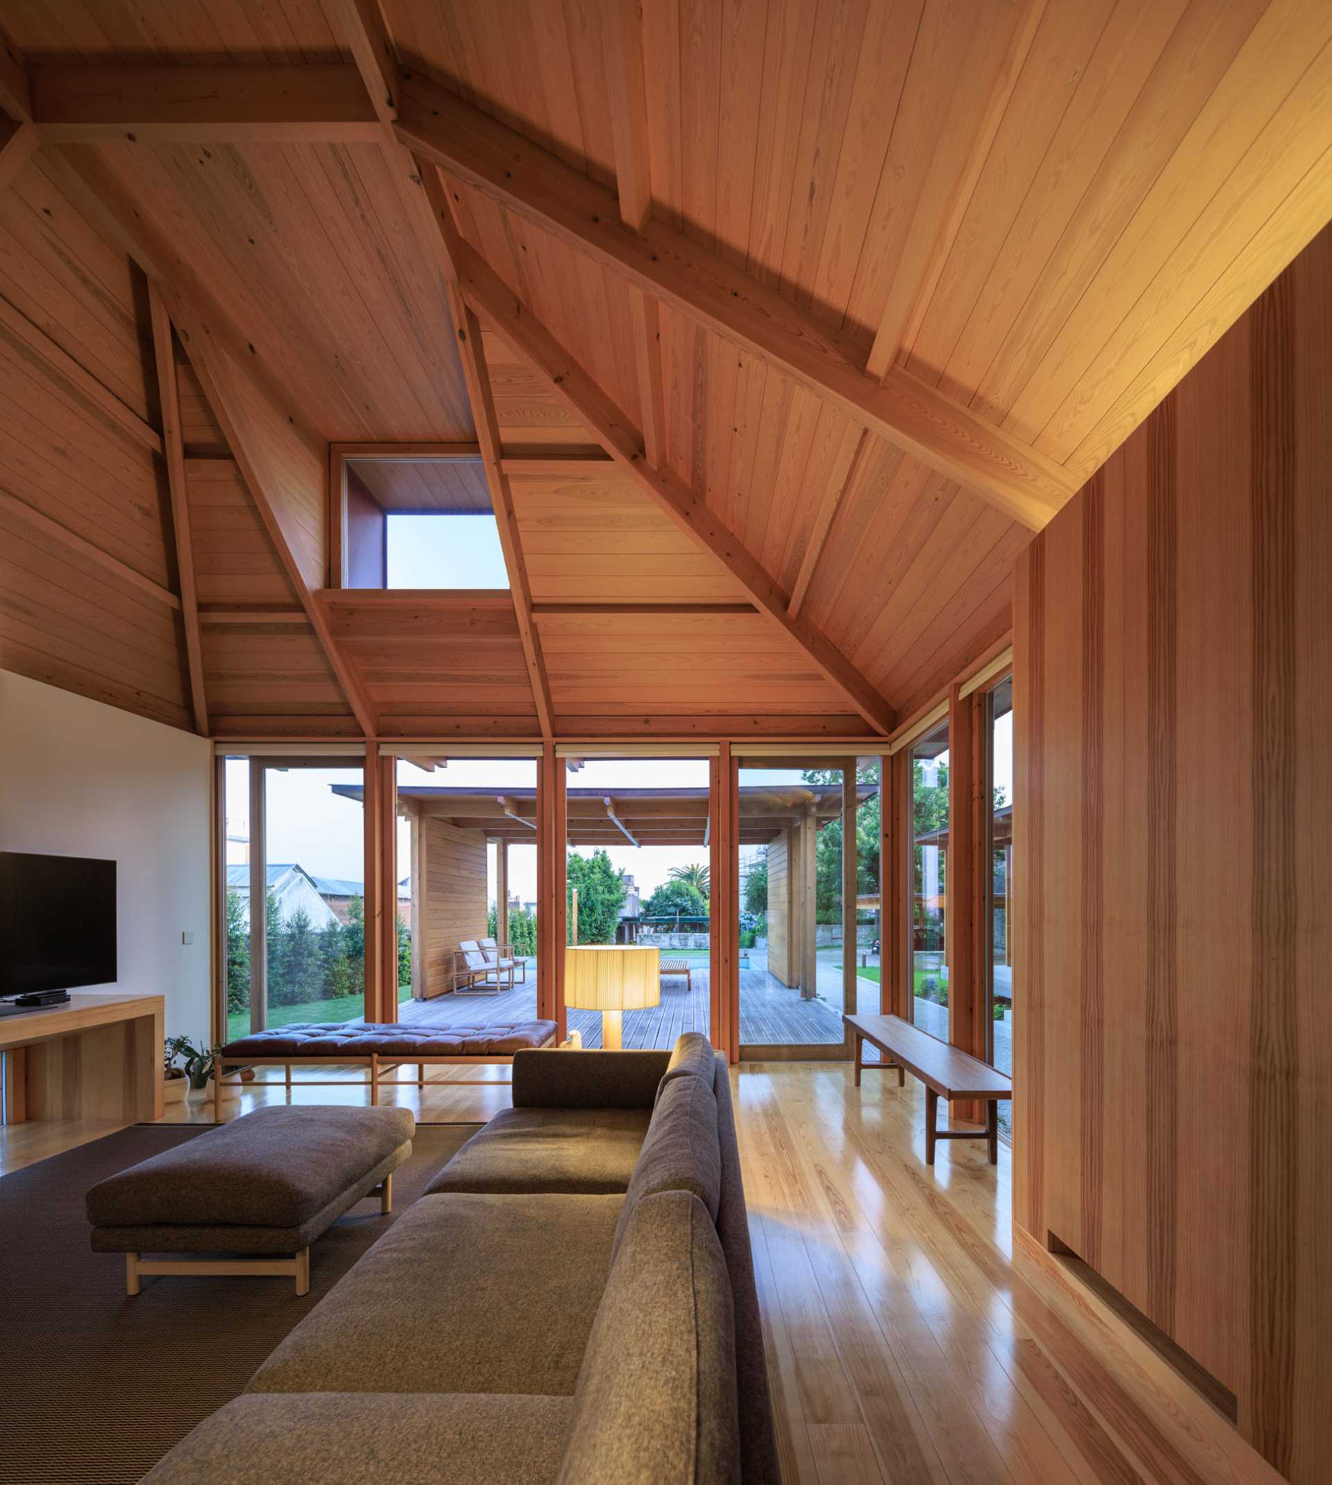
[[[1332,230],[1017,566],[1017,1222],[1325,1476]]]

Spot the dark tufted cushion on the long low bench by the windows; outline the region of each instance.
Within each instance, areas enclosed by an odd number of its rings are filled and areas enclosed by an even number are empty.
[[[511,1057],[552,1041],[555,1023],[496,1022],[492,1026],[408,1026],[402,1022],[297,1022],[239,1037],[223,1047],[227,1062],[247,1057]]]

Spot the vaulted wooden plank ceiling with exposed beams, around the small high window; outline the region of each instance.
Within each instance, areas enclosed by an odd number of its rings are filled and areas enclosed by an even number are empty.
[[[0,664],[220,737],[887,731],[1332,217],[1316,0],[3,25]],[[330,443],[512,598],[333,588]]]

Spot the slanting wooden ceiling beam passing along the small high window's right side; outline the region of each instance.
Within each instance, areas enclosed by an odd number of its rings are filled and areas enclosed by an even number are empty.
[[[437,226],[437,258],[444,270],[448,312],[457,334],[457,352],[468,396],[472,402],[472,417],[477,423],[477,441],[481,446],[481,463],[490,486],[490,503],[494,508],[494,524],[503,549],[505,566],[509,570],[509,590],[514,595],[514,615],[518,619],[518,637],[523,642],[523,658],[527,661],[527,676],[532,682],[532,698],[543,738],[554,735],[555,708],[551,701],[551,685],[546,679],[545,659],[541,650],[541,634],[532,619],[532,585],[527,581],[527,564],[518,541],[518,517],[514,511],[514,496],[508,475],[503,472],[499,438],[499,417],[494,411],[494,394],[490,388],[490,373],[486,367],[486,347],[481,343],[481,325],[466,304],[457,282],[457,255],[463,248],[453,226],[453,215],[444,196],[440,172],[422,160],[416,162],[431,214]]]

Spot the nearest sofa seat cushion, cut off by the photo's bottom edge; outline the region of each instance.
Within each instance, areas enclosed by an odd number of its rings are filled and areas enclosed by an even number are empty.
[[[143,1485],[549,1485],[570,1397],[249,1393],[220,1408]]]

